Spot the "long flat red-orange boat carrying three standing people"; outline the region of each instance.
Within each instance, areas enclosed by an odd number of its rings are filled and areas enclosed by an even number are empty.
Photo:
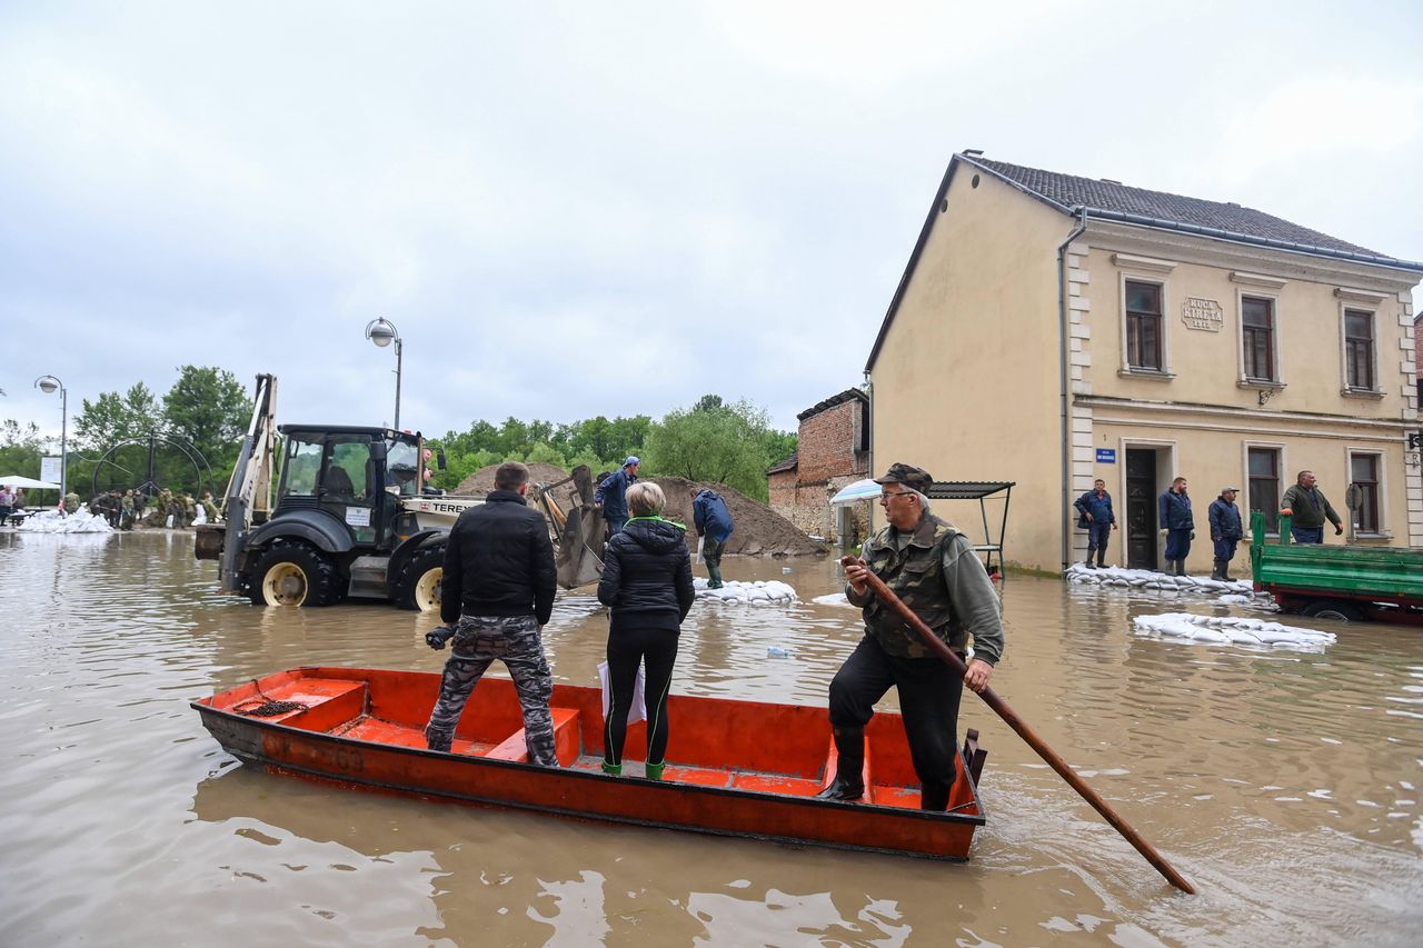
[[[485,678],[451,753],[425,747],[440,675],[297,668],[194,702],[225,750],[275,773],[592,820],[966,860],[983,826],[978,732],[961,749],[946,813],[919,810],[904,725],[877,713],[867,729],[865,801],[817,800],[835,773],[824,707],[669,697],[663,780],[605,776],[602,692],[555,685],[559,769],[528,763],[512,682]],[[646,747],[628,729],[628,757]],[[633,770],[633,767],[629,767]]]

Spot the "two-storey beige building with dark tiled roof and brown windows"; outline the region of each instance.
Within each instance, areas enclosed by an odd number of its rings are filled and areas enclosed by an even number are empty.
[[[1174,477],[1205,571],[1220,490],[1274,524],[1303,468],[1358,542],[1420,547],[1420,276],[1237,204],[955,155],[867,364],[872,468],[1016,481],[1005,548],[1036,569],[1084,558],[1097,477],[1114,564],[1164,565]]]

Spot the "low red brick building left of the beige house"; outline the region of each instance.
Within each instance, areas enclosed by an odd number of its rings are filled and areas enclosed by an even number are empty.
[[[830,498],[869,475],[869,396],[847,389],[801,411],[800,447],[767,471],[771,510],[814,537],[838,539]],[[851,508],[848,541],[865,535],[865,511]]]

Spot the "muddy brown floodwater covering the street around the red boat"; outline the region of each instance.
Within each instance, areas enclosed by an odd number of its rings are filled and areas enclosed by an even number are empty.
[[[673,688],[824,706],[859,638],[855,611],[810,602],[838,591],[834,562],[726,572],[804,601],[699,602]],[[1195,883],[1190,897],[972,695],[961,723],[989,750],[989,821],[968,864],[253,773],[191,699],[295,665],[438,670],[444,653],[418,613],[259,609],[215,585],[189,535],[0,531],[0,944],[1419,941],[1419,629],[1289,619],[1339,633],[1319,655],[1173,643],[1131,632],[1133,615],[1178,608],[1165,594],[1007,579],[993,686]],[[561,595],[545,631],[558,680],[596,682],[605,628],[591,596]]]

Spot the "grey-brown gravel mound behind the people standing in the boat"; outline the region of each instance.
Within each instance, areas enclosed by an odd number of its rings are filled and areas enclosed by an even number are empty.
[[[498,467],[498,464],[491,464],[480,468],[464,478],[453,493],[475,497],[488,494],[494,490],[494,471]],[[529,475],[534,481],[555,484],[568,477],[568,471],[554,464],[534,463],[529,464]],[[655,477],[652,481],[667,495],[667,510],[663,515],[667,520],[687,525],[687,547],[696,551],[697,535],[692,520],[692,497],[689,494],[693,485],[692,481],[682,477]],[[710,487],[714,490],[726,501],[727,510],[731,511],[734,530],[726,544],[727,554],[746,557],[808,557],[827,552],[822,544],[815,542],[797,530],[795,524],[766,504],[751,500],[734,487],[727,487],[726,484],[697,484],[697,487]],[[572,494],[572,483],[554,490],[554,497],[564,510],[571,508]]]

